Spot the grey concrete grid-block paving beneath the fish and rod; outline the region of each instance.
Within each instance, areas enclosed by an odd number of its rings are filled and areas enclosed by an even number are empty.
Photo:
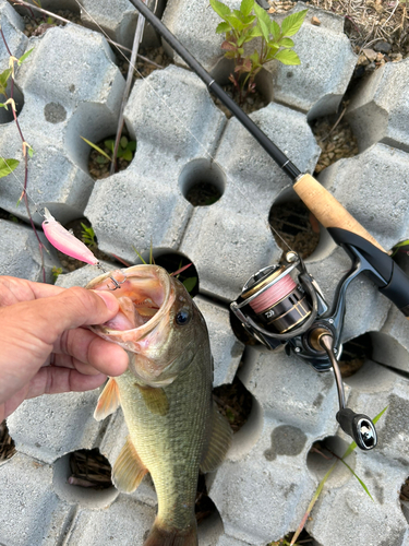
[[[19,17],[4,5],[0,3],[0,23],[5,27]],[[203,23],[207,22],[204,4],[185,7],[170,0],[165,20],[179,20],[178,32],[187,34],[189,17],[197,20],[197,9]],[[312,88],[317,73],[321,84],[315,95],[309,94],[308,105],[301,92],[291,98],[298,111],[269,104],[252,115],[298,167],[309,171],[314,169],[318,149],[306,112],[313,117],[328,104],[336,108],[353,68],[339,20],[317,16],[322,27],[305,25],[300,40],[310,50],[320,44],[320,55],[292,76]],[[203,28],[199,44],[209,32],[205,24]],[[17,73],[24,95],[19,119],[35,149],[28,183],[33,209],[49,205],[62,223],[85,211],[101,248],[132,262],[136,260],[132,247],[146,252],[151,239],[155,250],[172,249],[190,258],[199,271],[196,299],[209,327],[216,384],[237,376],[252,396],[249,419],[234,435],[226,461],[206,476],[216,511],[200,525],[200,546],[265,546],[279,539],[298,526],[329,464],[311,451],[314,442],[326,439],[338,454],[349,443],[335,420],[332,375],[314,373],[282,351],[267,353],[260,347],[246,347],[238,368],[243,347],[231,332],[226,302],[237,297],[251,273],[278,260],[280,251],[267,218],[273,203],[289,195],[289,182],[237,121],[228,121],[214,106],[195,75],[170,67],[139,82],[132,92],[125,112],[127,127],[137,141],[132,164],[94,185],[87,174],[86,147],[77,136],[85,130],[84,135],[94,141],[110,134],[123,88],[105,39],[73,25],[29,43],[17,24],[8,32],[10,40],[35,47]],[[208,40],[208,51],[217,56],[212,33]],[[205,49],[203,44],[199,47]],[[328,63],[323,50],[333,51],[332,61],[339,61],[334,62],[339,80],[323,71]],[[401,88],[405,74],[396,67],[388,70],[398,74],[393,82]],[[324,72],[330,88],[324,86]],[[364,96],[372,93],[371,82],[368,85]],[[314,110],[315,105],[320,108]],[[362,118],[369,133],[376,131],[376,118]],[[408,237],[408,154],[390,142],[363,147],[357,157],[325,169],[320,180],[389,248]],[[20,150],[15,127],[2,122],[1,155],[19,158]],[[21,181],[21,167],[15,175]],[[222,194],[217,203],[193,207],[185,200],[197,178],[217,186]],[[15,209],[20,193],[15,177],[0,180],[0,207],[24,218],[22,206]],[[26,226],[0,221],[2,274],[38,280],[32,235]],[[349,266],[342,249],[325,235],[308,260],[328,300]],[[87,266],[61,275],[58,284],[85,285],[97,274]],[[344,341],[365,332],[373,341],[372,359],[346,380],[348,403],[372,417],[388,406],[378,424],[378,449],[349,459],[374,500],[347,468],[339,467],[325,486],[308,530],[314,546],[333,546],[334,537],[337,546],[407,546],[408,509],[398,498],[409,467],[407,320],[365,277],[352,283],[347,305]],[[0,466],[0,543],[4,546],[142,544],[156,511],[149,479],[130,496],[113,487],[105,492],[80,491],[67,484],[72,451],[97,447],[113,464],[127,437],[121,411],[106,422],[93,420],[98,394],[27,401],[8,419],[17,454]]]

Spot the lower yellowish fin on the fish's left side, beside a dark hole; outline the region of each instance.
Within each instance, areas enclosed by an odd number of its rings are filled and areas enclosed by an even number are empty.
[[[113,485],[120,491],[132,492],[141,484],[145,474],[147,474],[147,468],[128,438],[112,468]]]

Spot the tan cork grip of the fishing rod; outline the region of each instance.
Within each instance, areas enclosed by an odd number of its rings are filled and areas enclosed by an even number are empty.
[[[298,197],[324,227],[352,232],[385,252],[376,239],[311,175],[302,175],[293,185]]]

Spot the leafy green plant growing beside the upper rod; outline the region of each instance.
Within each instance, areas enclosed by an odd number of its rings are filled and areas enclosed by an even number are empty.
[[[300,29],[308,10],[288,15],[280,25],[269,19],[268,13],[255,0],[242,0],[240,10],[230,10],[219,0],[210,0],[214,11],[224,20],[217,34],[226,34],[221,44],[225,57],[234,62],[229,80],[242,103],[249,93],[254,93],[255,76],[266,62],[276,59],[284,64],[300,64],[300,58],[292,50],[294,43],[290,38]],[[261,49],[249,55],[244,45],[261,38]],[[249,48],[246,48],[249,49]]]

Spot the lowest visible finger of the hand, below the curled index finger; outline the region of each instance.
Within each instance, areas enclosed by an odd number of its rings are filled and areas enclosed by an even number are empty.
[[[57,394],[61,392],[83,392],[100,387],[107,379],[104,373],[84,376],[77,370],[46,367],[38,370],[28,384],[26,399],[34,399],[41,394]]]

